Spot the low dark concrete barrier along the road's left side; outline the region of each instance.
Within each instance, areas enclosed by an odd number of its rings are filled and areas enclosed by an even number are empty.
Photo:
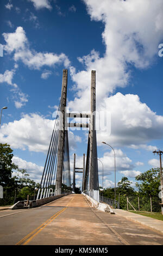
[[[38,200],[30,200],[30,202],[32,202],[32,206],[30,206],[30,208],[34,208],[34,207],[41,206],[43,204],[50,203],[58,198],[65,197],[68,194],[71,194],[71,193],[59,194],[58,196],[47,197],[47,198],[42,198]],[[24,201],[18,201],[16,204],[10,206],[9,209],[11,210],[24,209]]]

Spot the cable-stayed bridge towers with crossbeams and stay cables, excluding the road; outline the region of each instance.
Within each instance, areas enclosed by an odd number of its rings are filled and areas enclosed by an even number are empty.
[[[61,99],[55,118],[54,129],[49,144],[45,167],[43,169],[37,199],[57,196],[62,190],[71,188],[70,154],[68,145],[68,127],[87,127],[89,129],[86,166],[83,169],[82,192],[87,191],[89,196],[99,202],[97,141],[95,129],[96,113],[96,71],[91,72],[91,106],[90,113],[67,113],[67,70],[63,70]],[[89,123],[69,123],[70,118],[86,118]],[[74,174],[77,172],[74,169]],[[79,171],[78,171],[79,172]],[[73,175],[73,192],[75,186]]]

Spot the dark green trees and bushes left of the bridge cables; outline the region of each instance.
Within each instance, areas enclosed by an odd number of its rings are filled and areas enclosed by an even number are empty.
[[[0,185],[3,186],[3,199],[0,199],[0,205],[14,204],[19,200],[27,199],[27,194],[32,196],[35,187],[39,184],[29,179],[29,174],[25,169],[18,169],[16,164],[12,163],[12,149],[8,144],[0,143]],[[17,170],[17,174],[12,177],[12,170]]]

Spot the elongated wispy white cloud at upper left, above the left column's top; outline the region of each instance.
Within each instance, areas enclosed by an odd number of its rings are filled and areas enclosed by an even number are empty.
[[[64,53],[55,54],[48,52],[36,52],[30,50],[26,32],[22,27],[17,27],[13,33],[3,33],[6,45],[4,50],[9,54],[14,53],[14,60],[21,60],[28,68],[39,70],[42,66],[54,66],[64,64],[68,68],[70,61]]]

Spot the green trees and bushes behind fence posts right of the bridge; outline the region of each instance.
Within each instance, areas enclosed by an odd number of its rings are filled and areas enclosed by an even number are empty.
[[[116,200],[120,200],[120,208],[123,210],[127,210],[127,197],[131,205],[136,210],[139,210],[139,203],[140,203],[140,210],[141,211],[151,211],[151,200],[152,198],[152,211],[160,212],[161,200],[158,196],[160,190],[160,170],[159,168],[147,170],[147,172],[141,173],[137,175],[135,179],[138,181],[136,182],[136,187],[139,191],[135,191],[133,187],[131,187],[132,182],[128,180],[127,177],[122,177],[122,180],[118,182],[118,187],[116,187]],[[102,192],[100,191],[101,195]],[[114,199],[114,188],[105,188],[103,191],[103,197]],[[139,197],[139,203],[138,203]],[[129,204],[129,210],[133,210]]]

